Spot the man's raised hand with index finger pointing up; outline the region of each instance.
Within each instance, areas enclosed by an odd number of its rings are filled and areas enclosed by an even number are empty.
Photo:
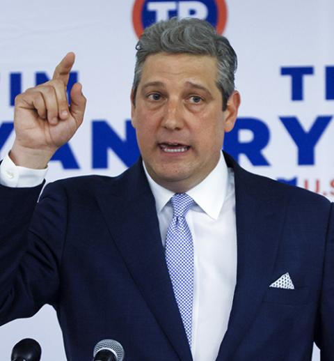
[[[74,64],[68,53],[49,82],[27,89],[15,99],[15,141],[10,158],[28,168],[45,168],[56,150],[71,139],[84,119],[86,98],[74,84],[68,106],[66,87]]]

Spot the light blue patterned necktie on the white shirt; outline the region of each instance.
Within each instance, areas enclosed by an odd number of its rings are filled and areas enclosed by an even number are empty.
[[[193,316],[193,239],[186,213],[195,203],[186,193],[176,193],[170,199],[173,219],[166,234],[166,263],[173,284],[177,306],[182,317],[186,337],[191,346]]]

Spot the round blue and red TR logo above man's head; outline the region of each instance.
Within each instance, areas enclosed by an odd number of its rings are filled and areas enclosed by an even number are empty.
[[[145,27],[159,20],[168,20],[170,17],[197,17],[207,20],[218,31],[223,33],[227,20],[225,0],[136,0],[132,10],[132,22],[136,36],[141,36]]]

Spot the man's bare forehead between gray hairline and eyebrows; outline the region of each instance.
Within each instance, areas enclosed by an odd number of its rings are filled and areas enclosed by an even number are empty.
[[[216,86],[216,80],[217,60],[213,56],[161,52],[145,59],[140,85],[154,81],[166,84],[191,81]]]

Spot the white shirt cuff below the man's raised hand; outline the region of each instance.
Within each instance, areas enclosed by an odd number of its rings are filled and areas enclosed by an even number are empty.
[[[47,169],[48,167],[45,169],[19,167],[6,154],[0,164],[0,184],[13,188],[35,187],[42,184]]]

